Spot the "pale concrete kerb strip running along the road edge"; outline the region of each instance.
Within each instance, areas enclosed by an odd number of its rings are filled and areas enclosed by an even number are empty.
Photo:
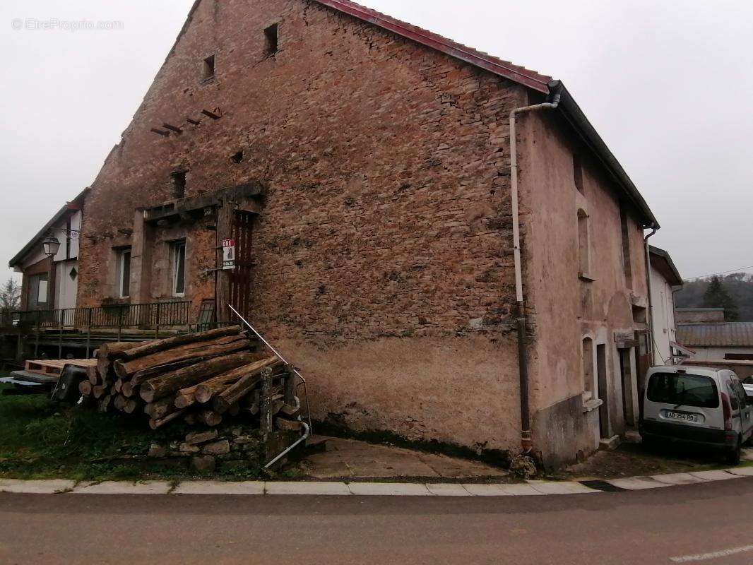
[[[609,481],[526,481],[523,483],[399,483],[341,481],[25,481],[0,479],[0,492],[31,494],[160,494],[160,495],[319,495],[319,496],[541,496],[645,490],[753,477],[753,467],[672,473]]]

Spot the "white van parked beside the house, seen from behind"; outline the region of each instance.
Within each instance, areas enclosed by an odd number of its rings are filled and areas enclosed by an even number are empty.
[[[682,365],[646,374],[639,423],[645,444],[681,441],[724,450],[737,464],[753,433],[753,403],[733,371]]]

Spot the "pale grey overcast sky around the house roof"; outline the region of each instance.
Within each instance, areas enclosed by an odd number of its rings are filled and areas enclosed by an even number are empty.
[[[191,3],[3,0],[2,264],[93,182]],[[684,277],[753,265],[753,2],[367,5],[561,79],[659,219],[651,243]],[[59,23],[14,29],[27,19]],[[120,29],[62,29],[78,20]]]

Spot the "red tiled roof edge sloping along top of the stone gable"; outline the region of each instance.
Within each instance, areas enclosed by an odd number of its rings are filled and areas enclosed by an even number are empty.
[[[355,2],[349,0],[316,0],[321,5],[328,6],[334,10],[349,14],[352,17],[356,17],[359,20],[363,20],[367,23],[372,23],[375,26],[379,26],[382,29],[386,29],[389,32],[401,35],[404,38],[417,41],[432,49],[446,53],[453,56],[456,59],[471,63],[471,65],[486,69],[489,72],[495,73],[502,77],[508,78],[511,81],[523,84],[526,87],[538,90],[544,94],[549,93],[549,84],[552,78],[546,75],[540,75],[538,72],[531,71],[525,67],[514,65],[509,61],[503,61],[495,56],[489,55],[489,53],[483,53],[477,51],[472,47],[467,47],[463,44],[456,43],[451,39],[437,35],[427,31],[426,29],[412,26],[410,23],[396,20],[394,17],[390,17],[386,14],[382,14],[370,8],[365,8]]]

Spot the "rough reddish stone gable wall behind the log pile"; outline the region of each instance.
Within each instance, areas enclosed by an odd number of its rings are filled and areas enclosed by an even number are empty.
[[[252,318],[309,376],[315,417],[512,447],[508,113],[524,101],[523,87],[314,3],[205,0],[87,197],[78,304],[118,301],[114,250],[131,244],[136,209],[172,199],[173,171],[187,171],[187,197],[258,179]],[[182,133],[151,132],[165,123]],[[198,307],[215,235],[180,235]],[[169,299],[169,234],[157,239],[152,300]]]

